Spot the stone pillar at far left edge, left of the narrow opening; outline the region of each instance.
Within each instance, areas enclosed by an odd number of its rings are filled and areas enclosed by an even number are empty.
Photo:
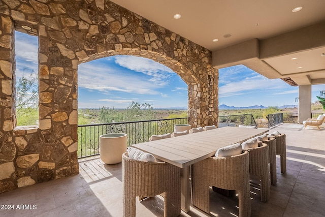
[[[0,193],[14,190],[14,159],[16,147],[13,142],[14,118],[14,26],[10,17],[0,16]]]

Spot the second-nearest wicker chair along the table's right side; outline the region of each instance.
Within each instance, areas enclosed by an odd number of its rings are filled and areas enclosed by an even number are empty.
[[[269,146],[262,143],[256,148],[243,150],[249,152],[249,174],[261,176],[261,200],[267,202],[270,199]]]

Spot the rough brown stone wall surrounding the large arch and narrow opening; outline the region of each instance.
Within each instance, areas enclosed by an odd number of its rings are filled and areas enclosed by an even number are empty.
[[[16,127],[15,30],[39,39],[34,128]],[[107,0],[0,1],[0,193],[79,172],[78,64],[119,54],[171,68],[188,85],[192,127],[218,124],[211,51]]]

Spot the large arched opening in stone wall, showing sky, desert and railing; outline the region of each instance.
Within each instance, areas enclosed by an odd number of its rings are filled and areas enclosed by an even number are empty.
[[[187,90],[179,75],[145,57],[114,55],[80,64],[78,157],[98,154],[103,134],[125,133],[131,145],[172,133],[174,124],[188,123]]]

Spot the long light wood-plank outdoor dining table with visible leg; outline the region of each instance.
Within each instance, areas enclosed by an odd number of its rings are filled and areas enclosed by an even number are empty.
[[[221,147],[244,142],[268,131],[268,129],[223,127],[132,146],[181,168],[181,209],[188,212],[191,200],[190,165],[213,156]]]

